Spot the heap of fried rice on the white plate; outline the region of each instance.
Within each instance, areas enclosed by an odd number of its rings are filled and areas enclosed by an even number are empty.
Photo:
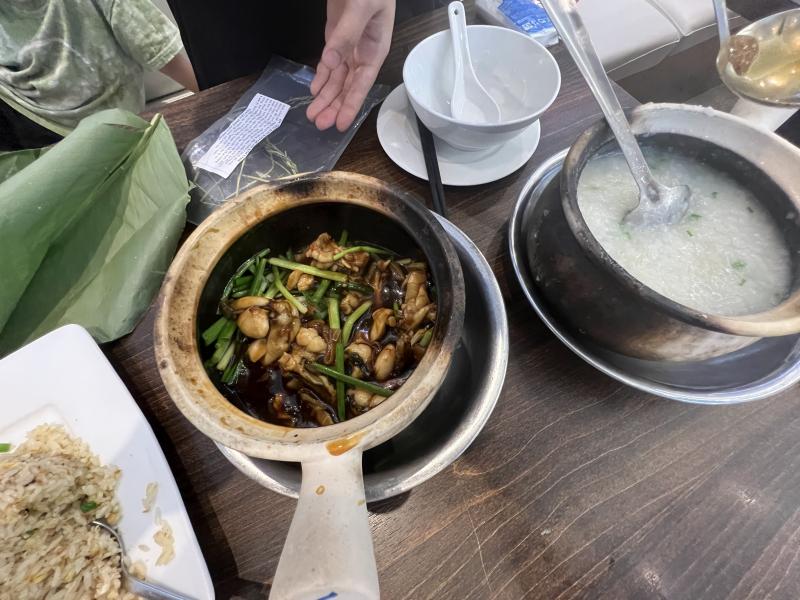
[[[42,425],[0,454],[0,598],[123,599],[115,525],[120,470],[62,427]]]

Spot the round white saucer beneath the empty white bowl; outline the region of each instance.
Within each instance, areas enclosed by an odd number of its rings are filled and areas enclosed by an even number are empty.
[[[536,121],[502,146],[475,152],[457,150],[436,139],[439,172],[445,185],[480,185],[510,175],[528,160],[539,145],[541,125]],[[403,84],[383,101],[378,113],[378,140],[384,152],[404,171],[428,180],[419,141],[416,115]]]

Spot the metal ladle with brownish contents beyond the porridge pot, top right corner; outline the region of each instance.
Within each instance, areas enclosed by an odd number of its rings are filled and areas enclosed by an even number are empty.
[[[717,71],[737,96],[769,106],[800,106],[800,8],[764,17],[731,35],[725,0],[714,0]]]

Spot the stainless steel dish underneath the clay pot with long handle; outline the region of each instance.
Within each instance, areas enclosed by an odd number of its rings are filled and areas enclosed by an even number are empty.
[[[455,225],[440,219],[461,260],[466,313],[461,343],[442,387],[425,411],[389,441],[364,453],[368,502],[396,496],[456,460],[483,429],[500,395],[508,363],[503,296],[480,250]],[[264,487],[297,497],[297,463],[252,458],[217,444],[242,473]]]

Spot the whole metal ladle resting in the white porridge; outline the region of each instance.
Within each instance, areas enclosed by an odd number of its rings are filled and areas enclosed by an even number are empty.
[[[662,185],[653,177],[573,0],[542,0],[542,5],[589,84],[639,187],[639,204],[624,221],[647,226],[677,223],[689,207],[691,190]]]

